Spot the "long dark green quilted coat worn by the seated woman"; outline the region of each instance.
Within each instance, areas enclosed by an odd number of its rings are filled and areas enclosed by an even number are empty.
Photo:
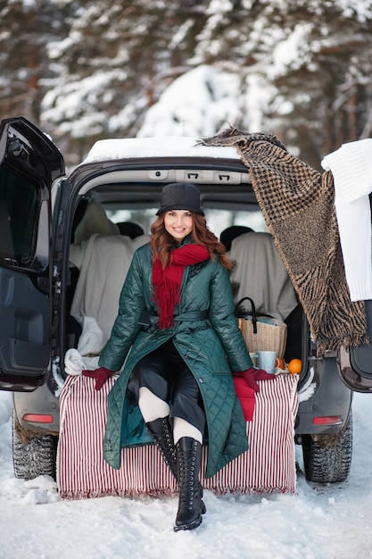
[[[157,328],[151,279],[152,251],[145,245],[133,257],[112,336],[99,360],[100,366],[111,371],[120,371],[125,363],[108,398],[103,455],[119,469],[122,446],[152,442],[138,406],[130,401],[128,379],[140,359],[173,338],[203,396],[208,444],[205,475],[210,478],[248,448],[231,371],[244,371],[252,367],[252,361],[234,317],[228,271],[218,258],[186,266],[175,325],[169,330]]]

